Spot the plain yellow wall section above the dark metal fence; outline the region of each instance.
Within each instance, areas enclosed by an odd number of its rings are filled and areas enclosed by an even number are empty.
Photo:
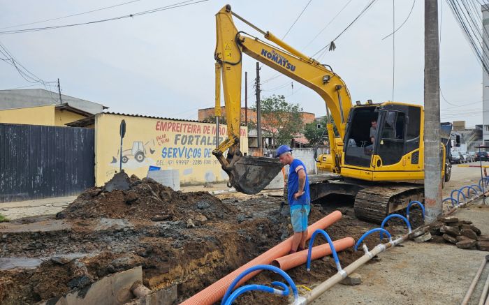
[[[0,110],[0,123],[54,126],[54,105]]]

